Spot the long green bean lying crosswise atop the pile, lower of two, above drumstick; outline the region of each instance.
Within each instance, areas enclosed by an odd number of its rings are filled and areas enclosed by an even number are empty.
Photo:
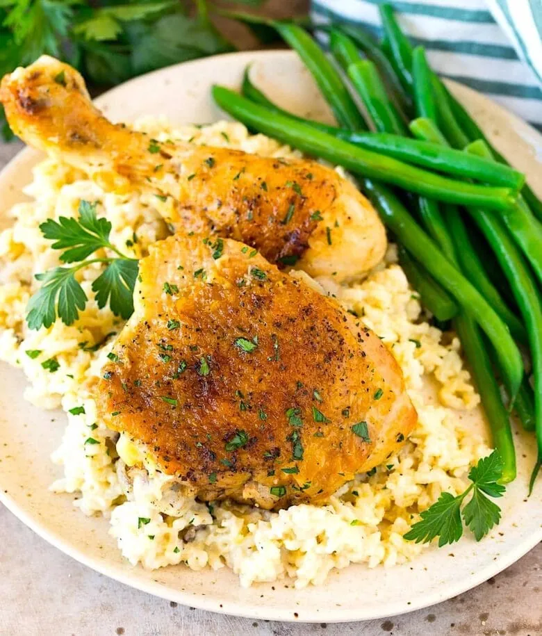
[[[254,104],[222,86],[213,86],[213,97],[224,111],[244,124],[308,154],[343,165],[347,170],[363,177],[381,179],[429,198],[462,205],[502,210],[515,202],[514,193],[507,188],[477,186],[420,170],[391,157],[336,139],[311,125]]]

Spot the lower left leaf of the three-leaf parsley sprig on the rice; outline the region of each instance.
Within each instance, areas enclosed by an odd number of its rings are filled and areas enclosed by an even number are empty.
[[[56,267],[35,277],[43,284],[28,301],[28,327],[51,327],[57,315],[65,325],[72,325],[88,300],[73,268]]]

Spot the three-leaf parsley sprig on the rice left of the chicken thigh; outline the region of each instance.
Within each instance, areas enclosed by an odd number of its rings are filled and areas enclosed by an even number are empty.
[[[26,322],[30,329],[50,327],[57,318],[72,325],[85,309],[88,301],[75,275],[92,263],[104,263],[106,268],[92,283],[96,302],[100,309],[109,303],[115,316],[126,319],[133,313],[133,288],[138,277],[138,261],[117,250],[109,240],[111,224],[105,218],[97,218],[97,203],[79,203],[79,219],[61,216],[58,221],[49,219],[40,225],[45,238],[53,240],[54,250],[63,263],[77,263],[72,267],[56,267],[35,277],[42,286],[28,302]],[[110,250],[116,256],[89,259],[98,250]]]

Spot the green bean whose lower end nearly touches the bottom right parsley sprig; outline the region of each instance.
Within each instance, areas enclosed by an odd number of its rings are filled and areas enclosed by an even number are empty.
[[[476,388],[482,398],[486,418],[491,426],[493,444],[502,459],[501,482],[508,484],[516,478],[516,453],[509,414],[502,403],[491,359],[482,342],[479,326],[473,320],[469,320],[468,316],[460,315],[455,320],[455,327],[470,368],[473,370]]]

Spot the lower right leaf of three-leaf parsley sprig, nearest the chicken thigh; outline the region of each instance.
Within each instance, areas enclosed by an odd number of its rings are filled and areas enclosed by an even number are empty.
[[[133,288],[138,277],[138,261],[133,259],[114,259],[104,272],[92,283],[96,293],[98,307],[109,302],[115,316],[124,320],[133,313]]]

